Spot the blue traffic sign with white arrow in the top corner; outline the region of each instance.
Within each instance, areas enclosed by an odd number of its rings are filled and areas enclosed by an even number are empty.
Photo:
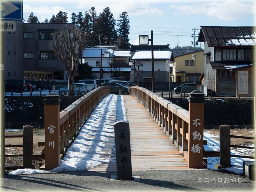
[[[23,20],[23,0],[3,0],[0,4],[0,19]]]

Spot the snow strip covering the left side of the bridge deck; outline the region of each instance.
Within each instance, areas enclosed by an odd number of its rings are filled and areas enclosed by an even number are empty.
[[[104,158],[102,149],[109,137],[114,137],[114,123],[127,120],[124,99],[122,95],[109,94],[93,111],[90,118],[68,148],[60,166],[50,172],[86,171],[103,162],[115,161],[114,158]],[[47,173],[49,171],[34,169],[17,169],[11,175]]]

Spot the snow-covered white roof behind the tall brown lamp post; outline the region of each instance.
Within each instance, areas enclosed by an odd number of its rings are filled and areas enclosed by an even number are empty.
[[[169,51],[154,51],[154,60],[155,59],[163,59],[169,60],[172,56],[172,52]],[[151,59],[151,51],[137,51],[134,53],[132,60],[139,59]]]

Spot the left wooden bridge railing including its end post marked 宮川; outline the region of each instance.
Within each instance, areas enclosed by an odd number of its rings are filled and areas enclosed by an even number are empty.
[[[108,86],[98,87],[77,99],[60,112],[60,99],[55,93],[44,96],[45,164],[41,169],[51,170],[60,165],[60,159],[75,140],[79,131],[100,100],[110,93]]]

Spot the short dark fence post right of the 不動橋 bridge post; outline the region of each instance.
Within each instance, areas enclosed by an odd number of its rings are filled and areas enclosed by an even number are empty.
[[[231,167],[229,125],[220,125],[220,166]]]

